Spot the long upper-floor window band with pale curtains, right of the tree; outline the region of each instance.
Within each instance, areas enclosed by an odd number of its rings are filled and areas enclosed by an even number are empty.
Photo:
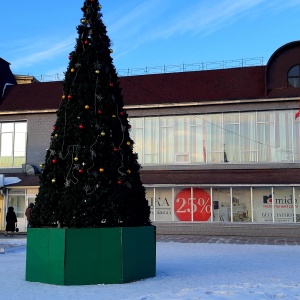
[[[139,162],[202,164],[300,160],[295,110],[132,118]]]

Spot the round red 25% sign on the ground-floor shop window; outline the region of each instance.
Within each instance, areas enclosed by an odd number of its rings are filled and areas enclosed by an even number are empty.
[[[183,189],[176,195],[174,209],[180,221],[192,221],[192,213],[194,221],[207,221],[211,216],[210,195],[194,188],[192,198],[191,189]]]

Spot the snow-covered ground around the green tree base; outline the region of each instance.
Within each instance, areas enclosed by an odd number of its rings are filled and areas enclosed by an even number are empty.
[[[300,246],[158,242],[154,278],[56,286],[25,281],[26,239],[2,239],[0,248],[4,243],[0,299],[5,300],[300,300]]]

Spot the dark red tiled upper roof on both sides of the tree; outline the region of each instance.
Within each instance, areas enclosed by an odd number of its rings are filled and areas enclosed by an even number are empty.
[[[125,105],[184,103],[265,96],[265,66],[120,77]],[[0,111],[58,109],[62,81],[9,86]]]

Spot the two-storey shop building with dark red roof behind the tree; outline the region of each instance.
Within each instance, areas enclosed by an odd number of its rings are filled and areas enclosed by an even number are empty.
[[[266,65],[120,83],[153,221],[300,222],[300,41],[277,49]],[[8,85],[3,93],[2,228],[14,206],[26,230],[61,91],[57,81]]]

